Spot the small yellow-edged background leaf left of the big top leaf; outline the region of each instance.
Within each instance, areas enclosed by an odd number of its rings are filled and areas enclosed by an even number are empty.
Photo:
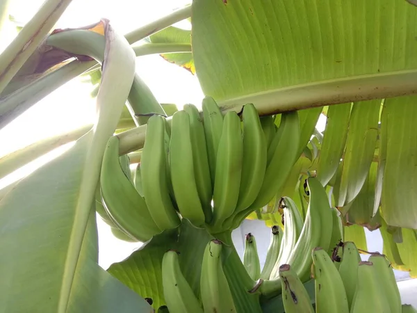
[[[167,27],[163,31],[159,31],[150,36],[151,42],[154,43],[177,43],[191,45],[191,31],[179,29],[174,26]],[[166,61],[179,65],[186,70],[195,74],[195,65],[193,54],[191,52],[181,54],[161,54]]]

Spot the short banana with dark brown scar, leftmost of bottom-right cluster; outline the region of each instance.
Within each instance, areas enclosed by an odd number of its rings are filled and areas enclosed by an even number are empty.
[[[289,264],[279,266],[282,286],[282,303],[286,313],[314,313],[304,284]]]

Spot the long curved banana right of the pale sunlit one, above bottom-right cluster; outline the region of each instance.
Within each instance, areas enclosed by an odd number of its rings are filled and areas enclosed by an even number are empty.
[[[307,185],[309,186],[310,199],[301,234],[289,257],[287,259],[281,258],[279,261],[281,264],[291,264],[302,282],[310,278],[312,260],[306,255],[310,255],[311,250],[316,247],[321,247],[323,250],[329,248],[333,223],[332,210],[325,188],[314,177],[307,179]],[[279,263],[275,264],[270,280],[265,280],[261,284],[261,292],[267,298],[281,289],[278,275],[279,265]]]

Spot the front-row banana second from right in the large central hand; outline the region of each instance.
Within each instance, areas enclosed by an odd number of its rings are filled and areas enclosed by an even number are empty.
[[[253,104],[243,106],[243,165],[235,212],[247,209],[261,189],[266,169],[267,145]]]

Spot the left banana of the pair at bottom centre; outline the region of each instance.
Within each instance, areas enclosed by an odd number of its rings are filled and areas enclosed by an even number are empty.
[[[169,250],[163,255],[162,285],[170,313],[203,313],[193,289],[181,272],[177,251]]]

